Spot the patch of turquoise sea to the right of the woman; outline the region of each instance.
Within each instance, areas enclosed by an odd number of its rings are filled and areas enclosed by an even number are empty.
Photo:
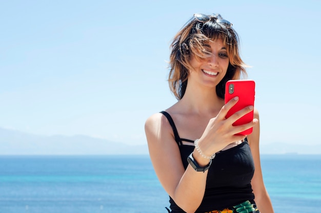
[[[321,155],[263,155],[261,161],[275,212],[318,212]]]

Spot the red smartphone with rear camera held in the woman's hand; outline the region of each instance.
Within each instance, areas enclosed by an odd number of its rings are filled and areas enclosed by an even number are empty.
[[[230,117],[234,113],[239,110],[242,110],[249,105],[254,106],[254,98],[255,98],[255,82],[254,80],[229,80],[226,82],[225,87],[225,103],[229,100],[238,96],[237,103],[230,109],[227,113],[226,118]],[[254,112],[251,111],[243,117],[236,120],[233,125],[243,125],[245,123],[249,123],[253,120]],[[240,132],[236,135],[249,135],[253,131],[253,127],[243,132]]]

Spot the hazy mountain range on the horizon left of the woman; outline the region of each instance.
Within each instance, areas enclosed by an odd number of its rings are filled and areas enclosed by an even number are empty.
[[[38,136],[0,128],[0,155],[137,155],[147,145],[127,145],[84,135]]]

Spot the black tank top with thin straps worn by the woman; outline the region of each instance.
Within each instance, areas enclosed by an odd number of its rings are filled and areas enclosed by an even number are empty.
[[[160,113],[167,117],[172,126],[175,141],[186,169],[188,166],[187,157],[194,151],[194,146],[185,145],[182,141],[194,141],[180,138],[171,116],[165,111]],[[208,171],[203,201],[195,212],[222,210],[247,200],[254,203],[251,186],[253,174],[254,161],[247,139],[237,146],[216,153]],[[195,185],[195,187],[197,186]],[[171,197],[169,202],[171,212],[185,212],[176,205]]]

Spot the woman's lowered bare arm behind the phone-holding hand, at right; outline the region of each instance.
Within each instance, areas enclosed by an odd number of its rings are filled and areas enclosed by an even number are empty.
[[[258,111],[254,110],[254,118],[258,119]],[[253,127],[253,132],[248,137],[248,141],[251,147],[252,156],[254,159],[255,172],[252,178],[251,184],[253,193],[255,195],[255,203],[257,208],[262,213],[273,213],[272,203],[269,194],[265,188],[262,169],[259,157],[259,123]]]

